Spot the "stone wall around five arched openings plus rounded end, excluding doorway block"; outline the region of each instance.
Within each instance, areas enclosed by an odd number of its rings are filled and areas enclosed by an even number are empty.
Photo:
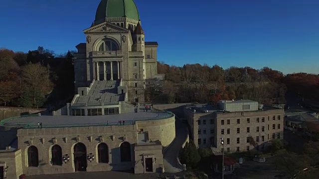
[[[88,172],[131,170],[135,166],[134,144],[137,143],[137,132],[144,128],[149,132],[153,141],[159,140],[163,146],[172,142],[175,137],[174,116],[168,119],[136,121],[135,125],[123,126],[98,126],[98,127],[72,127],[72,128],[40,128],[40,129],[18,129],[18,148],[22,151],[22,167],[26,175],[44,175],[74,172],[73,147],[77,143],[77,136],[81,143],[86,146],[87,153],[97,156],[97,146],[100,143],[100,136],[103,142],[109,147],[109,163],[99,164],[97,161],[88,162]],[[112,140],[114,135],[115,139]],[[90,140],[92,136],[92,141]],[[57,145],[62,148],[62,155],[68,154],[70,162],[62,166],[51,166],[50,150],[53,146],[53,138],[57,139]],[[126,141],[132,144],[132,162],[121,162],[120,145]],[[26,167],[26,151],[29,147],[29,140],[38,149],[39,166]]]

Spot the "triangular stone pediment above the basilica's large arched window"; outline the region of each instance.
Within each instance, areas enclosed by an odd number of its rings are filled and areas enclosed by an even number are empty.
[[[101,33],[101,34],[108,34],[108,33],[118,33],[118,32],[130,32],[129,29],[126,29],[124,27],[120,27],[118,25],[115,25],[113,23],[110,22],[103,22],[100,23],[98,25],[95,25],[93,27],[90,27],[88,29],[83,30],[83,32],[85,34],[97,34],[97,33]]]

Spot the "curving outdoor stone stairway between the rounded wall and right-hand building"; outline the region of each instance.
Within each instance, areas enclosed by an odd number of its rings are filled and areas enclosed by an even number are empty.
[[[165,173],[178,173],[183,167],[177,162],[179,150],[187,137],[187,128],[179,119],[175,120],[176,135],[173,142],[164,149],[163,162]]]

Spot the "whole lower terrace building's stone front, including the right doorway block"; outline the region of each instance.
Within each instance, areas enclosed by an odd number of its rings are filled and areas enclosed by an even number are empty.
[[[141,131],[148,133],[148,139],[145,143],[141,143],[138,140],[138,134]],[[79,143],[85,146],[85,156],[87,154],[96,156],[95,160],[91,162],[87,160],[87,172],[135,170],[135,168],[138,173],[150,172],[147,171],[147,169],[143,169],[144,164],[142,165],[141,161],[137,163],[142,159],[142,153],[143,155],[148,154],[144,157],[145,159],[143,158],[143,160],[146,160],[145,163],[148,163],[148,161],[152,159],[152,172],[160,172],[163,167],[162,147],[169,145],[175,137],[175,117],[136,121],[134,125],[18,130],[14,127],[1,128],[3,135],[14,132],[15,137],[17,137],[17,151],[19,151],[19,153],[9,153],[15,160],[8,158],[2,160],[1,156],[4,156],[5,153],[1,153],[0,151],[0,161],[4,161],[5,165],[11,168],[10,170],[15,170],[19,175],[25,174],[30,176],[75,172],[76,166],[73,162],[75,161],[73,153],[74,146]],[[11,139],[13,138],[14,136],[12,135]],[[98,146],[101,143],[106,144],[108,147],[108,163],[98,162]],[[131,162],[121,161],[121,145],[123,143],[131,144]],[[69,161],[66,163],[63,162],[62,165],[52,165],[51,150],[55,145],[61,148],[62,156],[70,157]],[[28,161],[28,149],[30,147],[35,147],[37,150],[37,167],[28,166],[30,162]],[[138,156],[136,154],[138,154]],[[12,161],[15,161],[16,164],[11,164],[10,162]],[[16,166],[16,169],[13,169],[13,166]],[[7,175],[9,175],[9,173]],[[13,173],[10,175],[13,175]]]

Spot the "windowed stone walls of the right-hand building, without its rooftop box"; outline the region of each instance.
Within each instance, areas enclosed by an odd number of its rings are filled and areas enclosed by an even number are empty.
[[[254,148],[247,137],[252,137],[261,148],[272,139],[283,139],[283,109],[199,113],[184,108],[184,117],[197,147],[221,150],[222,137],[225,151],[247,151]]]

